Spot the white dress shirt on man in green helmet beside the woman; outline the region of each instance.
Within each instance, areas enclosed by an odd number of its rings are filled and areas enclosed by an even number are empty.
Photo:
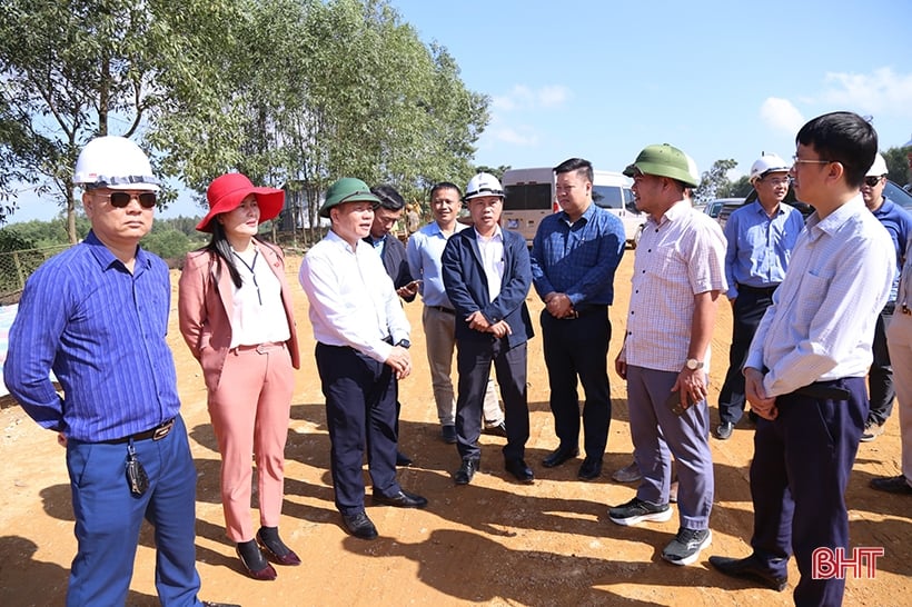
[[[329,231],[305,256],[298,275],[310,301],[314,338],[348,346],[386,361],[393,346],[408,339],[410,326],[374,248],[359,240],[353,249]]]

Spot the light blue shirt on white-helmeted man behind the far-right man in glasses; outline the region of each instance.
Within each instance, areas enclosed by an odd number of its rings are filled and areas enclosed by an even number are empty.
[[[804,218],[794,207],[781,202],[770,217],[760,201],[736,209],[725,222],[725,279],[728,299],[737,297],[737,286],[775,287],[785,278],[792,249],[804,229]]]

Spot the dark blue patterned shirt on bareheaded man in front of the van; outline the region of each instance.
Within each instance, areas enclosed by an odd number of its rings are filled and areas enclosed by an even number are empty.
[[[621,220],[594,202],[573,225],[566,211],[545,217],[532,241],[535,291],[564,293],[577,309],[611,306],[625,242]]]

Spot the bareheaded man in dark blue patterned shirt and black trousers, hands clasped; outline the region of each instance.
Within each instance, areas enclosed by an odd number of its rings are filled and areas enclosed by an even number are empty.
[[[611,424],[608,306],[614,299],[614,271],[624,255],[624,225],[593,203],[588,160],[571,158],[554,172],[563,210],[542,220],[532,243],[532,280],[545,302],[542,339],[559,440],[542,464],[552,468],[579,454],[578,377],[586,396],[586,457],[577,477],[594,480],[602,474]]]

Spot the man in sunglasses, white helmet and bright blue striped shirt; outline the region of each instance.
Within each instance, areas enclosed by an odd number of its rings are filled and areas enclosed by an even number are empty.
[[[165,339],[168,267],[138,246],[158,180],[136,143],[101,137],[73,181],[92,229],[26,283],[3,366],[26,412],[67,447],[79,543],[67,605],[126,603],[143,519],[155,527],[161,604],[200,605],[197,475]]]

